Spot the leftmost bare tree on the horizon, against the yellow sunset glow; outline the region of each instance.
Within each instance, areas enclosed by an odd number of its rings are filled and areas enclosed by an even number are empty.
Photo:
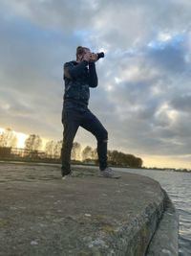
[[[1,147],[16,147],[17,138],[11,128],[6,128],[0,135]]]

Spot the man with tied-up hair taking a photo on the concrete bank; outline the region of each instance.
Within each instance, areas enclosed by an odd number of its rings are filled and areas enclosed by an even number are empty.
[[[63,179],[71,175],[71,151],[77,128],[82,127],[96,136],[97,155],[100,174],[113,177],[114,173],[107,166],[108,132],[88,108],[90,98],[89,87],[97,86],[96,76],[97,55],[89,48],[78,46],[76,61],[64,64],[65,93],[62,110],[62,124],[64,126],[63,144],[61,150],[61,174]]]

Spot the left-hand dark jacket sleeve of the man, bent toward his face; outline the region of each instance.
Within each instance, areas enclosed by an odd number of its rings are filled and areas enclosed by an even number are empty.
[[[64,64],[64,77],[68,79],[76,79],[79,77],[83,72],[84,68],[88,65],[88,61],[83,60],[78,65],[74,65],[74,63],[66,62]]]

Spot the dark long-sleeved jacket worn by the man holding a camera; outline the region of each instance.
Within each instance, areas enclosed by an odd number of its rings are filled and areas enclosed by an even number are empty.
[[[65,81],[64,101],[74,101],[78,104],[88,105],[89,87],[96,87],[98,83],[95,63],[88,63],[86,60],[66,62],[63,79]]]

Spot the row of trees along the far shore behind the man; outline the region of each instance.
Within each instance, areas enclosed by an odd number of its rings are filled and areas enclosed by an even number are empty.
[[[17,137],[11,128],[6,128],[0,134],[0,147],[11,147],[16,148]],[[62,140],[53,141],[50,140],[44,147],[44,152],[47,157],[59,158],[62,148]],[[42,139],[37,134],[30,134],[25,140],[25,150],[28,151],[40,151],[42,149]],[[82,149],[78,142],[74,142],[72,160],[80,160],[83,162],[94,162],[97,163],[97,152],[90,146],[86,146]],[[108,151],[108,163],[115,166],[124,167],[137,167],[140,168],[143,164],[142,159],[136,157],[133,154],[127,154],[121,151]]]

